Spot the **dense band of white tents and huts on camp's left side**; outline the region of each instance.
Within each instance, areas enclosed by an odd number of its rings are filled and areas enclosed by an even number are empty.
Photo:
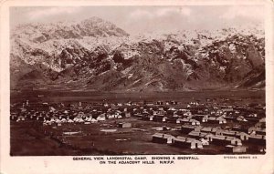
[[[62,124],[90,124],[106,119],[114,118],[129,118],[130,112],[126,108],[112,109],[109,106],[93,107],[90,105],[82,107],[81,102],[78,106],[70,105],[65,107],[64,104],[60,106],[50,106],[47,103],[40,105],[23,104],[23,107],[17,108],[16,111],[11,112],[11,120],[22,122],[27,120],[36,120],[42,122],[44,126],[54,125],[61,126]]]

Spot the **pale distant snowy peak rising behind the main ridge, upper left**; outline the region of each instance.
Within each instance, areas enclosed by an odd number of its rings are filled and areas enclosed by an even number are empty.
[[[129,36],[120,27],[100,17],[93,16],[81,22],[62,21],[50,24],[32,23],[17,26],[12,31],[12,38],[42,43],[57,39],[82,39],[84,36]]]

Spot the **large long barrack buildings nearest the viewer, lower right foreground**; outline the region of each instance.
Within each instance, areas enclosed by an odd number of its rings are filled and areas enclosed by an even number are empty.
[[[245,153],[248,151],[246,144],[257,146],[258,152],[266,150],[266,132],[265,128],[258,128],[259,125],[265,125],[265,119],[260,119],[255,127],[241,128],[237,127],[202,127],[193,125],[183,125],[180,130],[184,136],[173,136],[166,133],[155,133],[153,142],[172,144],[181,148],[201,148],[210,144],[227,148],[227,152]],[[257,129],[258,132],[256,132]]]

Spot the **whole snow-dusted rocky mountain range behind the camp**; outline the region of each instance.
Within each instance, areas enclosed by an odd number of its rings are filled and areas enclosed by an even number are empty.
[[[248,33],[249,32],[249,33]],[[265,87],[257,28],[129,36],[98,17],[11,32],[11,87],[167,91]]]

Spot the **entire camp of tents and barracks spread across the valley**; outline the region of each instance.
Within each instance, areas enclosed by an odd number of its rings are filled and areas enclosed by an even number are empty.
[[[20,106],[21,105],[21,106]],[[35,120],[44,126],[62,124],[92,124],[107,119],[139,118],[142,121],[176,124],[180,136],[173,131],[156,132],[153,142],[170,144],[179,148],[205,148],[210,145],[226,148],[229,152],[248,152],[249,145],[258,152],[266,148],[266,115],[263,106],[221,106],[209,102],[158,101],[128,103],[74,103],[29,104],[11,107],[11,120]],[[123,122],[121,128],[132,128]],[[179,127],[178,127],[179,126]]]

